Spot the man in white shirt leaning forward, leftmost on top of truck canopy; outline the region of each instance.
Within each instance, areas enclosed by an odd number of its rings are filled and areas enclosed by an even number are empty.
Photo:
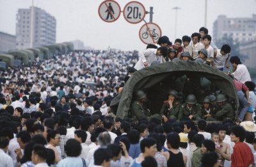
[[[158,60],[157,56],[163,56],[165,58],[168,56],[168,49],[167,47],[159,47],[158,49],[149,48],[146,49],[146,51],[139,53],[139,56],[139,61],[134,66],[136,70],[141,70],[142,68],[150,66],[154,61]]]

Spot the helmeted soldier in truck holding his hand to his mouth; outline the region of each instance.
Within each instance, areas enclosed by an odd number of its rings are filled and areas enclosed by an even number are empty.
[[[164,121],[168,119],[177,120],[179,116],[179,110],[181,104],[177,100],[178,92],[176,90],[170,90],[168,93],[168,100],[164,101],[163,106],[161,107],[160,115],[164,118]]]

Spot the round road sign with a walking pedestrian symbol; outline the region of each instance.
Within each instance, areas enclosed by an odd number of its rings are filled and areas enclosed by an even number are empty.
[[[120,17],[121,8],[116,1],[106,0],[103,1],[98,9],[100,19],[105,22],[115,22]]]

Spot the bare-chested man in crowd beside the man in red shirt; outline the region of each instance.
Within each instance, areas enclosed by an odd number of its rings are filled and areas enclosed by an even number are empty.
[[[216,148],[216,152],[220,154],[220,163],[223,166],[225,160],[230,161],[231,159],[230,145],[228,143],[223,142],[223,140],[226,137],[226,127],[224,125],[218,129],[218,134],[220,148]]]

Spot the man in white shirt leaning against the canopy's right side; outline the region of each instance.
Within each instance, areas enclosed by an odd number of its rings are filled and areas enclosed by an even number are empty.
[[[232,56],[230,58],[230,63],[232,63],[233,72],[231,73],[238,81],[245,83],[246,81],[252,81],[250,73],[245,65],[243,65],[238,56]]]

